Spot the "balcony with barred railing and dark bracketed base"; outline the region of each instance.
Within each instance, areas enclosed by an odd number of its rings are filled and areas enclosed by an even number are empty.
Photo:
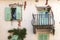
[[[47,11],[39,11],[38,14],[33,14],[32,25],[33,32],[36,33],[36,29],[48,29],[48,32],[54,34],[54,16],[53,13]]]

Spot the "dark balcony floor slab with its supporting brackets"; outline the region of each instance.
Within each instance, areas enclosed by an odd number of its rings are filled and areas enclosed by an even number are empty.
[[[33,25],[33,32],[34,34],[36,34],[36,29],[42,32],[48,32],[48,33],[52,33],[53,35],[55,34],[55,29],[54,26],[52,25]]]

